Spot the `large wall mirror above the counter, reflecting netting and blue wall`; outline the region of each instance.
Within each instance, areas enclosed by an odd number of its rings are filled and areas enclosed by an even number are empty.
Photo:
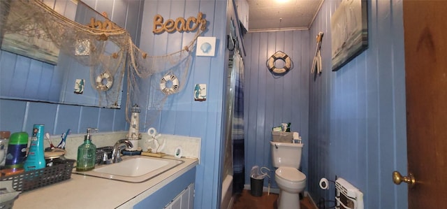
[[[0,99],[121,107],[125,29],[82,1],[0,3]]]

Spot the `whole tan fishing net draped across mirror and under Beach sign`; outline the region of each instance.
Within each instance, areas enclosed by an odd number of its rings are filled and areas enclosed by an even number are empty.
[[[33,39],[52,43],[59,52],[75,59],[84,66],[89,66],[91,87],[97,90],[100,106],[117,107],[121,99],[122,80],[127,71],[126,120],[130,122],[133,103],[140,106],[142,97],[139,83],[151,80],[147,108],[161,111],[163,104],[170,94],[159,91],[159,81],[165,75],[175,75],[179,80],[179,89],[173,94],[181,92],[188,75],[191,50],[205,27],[198,27],[191,42],[177,52],[168,55],[149,56],[132,41],[130,34],[115,23],[91,20],[89,27],[60,15],[39,0],[1,1],[0,33],[20,34],[27,41]],[[96,20],[95,20],[96,21]],[[99,25],[99,27],[97,27]],[[87,49],[87,53],[80,51]],[[98,79],[103,76],[103,80]],[[113,84],[107,86],[107,79],[111,76]],[[158,82],[157,82],[158,80]],[[103,81],[106,83],[104,84]],[[103,85],[101,85],[101,83]],[[101,85],[101,87],[98,87]]]

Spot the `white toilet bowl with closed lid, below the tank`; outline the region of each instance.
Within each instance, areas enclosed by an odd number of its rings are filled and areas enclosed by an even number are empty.
[[[278,209],[300,209],[300,192],[306,187],[306,175],[296,168],[279,167],[274,171],[279,187]]]

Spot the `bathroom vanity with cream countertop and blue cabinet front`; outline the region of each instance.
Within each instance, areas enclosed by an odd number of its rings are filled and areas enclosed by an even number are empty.
[[[166,158],[177,159],[170,155]],[[70,180],[20,194],[14,208],[163,208],[179,194],[189,198],[186,208],[192,208],[198,160],[182,161],[183,164],[139,183],[73,173]]]

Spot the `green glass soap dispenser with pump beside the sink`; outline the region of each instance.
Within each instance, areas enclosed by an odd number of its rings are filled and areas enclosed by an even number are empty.
[[[91,132],[98,129],[87,129],[84,143],[78,147],[78,160],[76,161],[76,171],[90,171],[95,168],[96,145],[91,143]]]

